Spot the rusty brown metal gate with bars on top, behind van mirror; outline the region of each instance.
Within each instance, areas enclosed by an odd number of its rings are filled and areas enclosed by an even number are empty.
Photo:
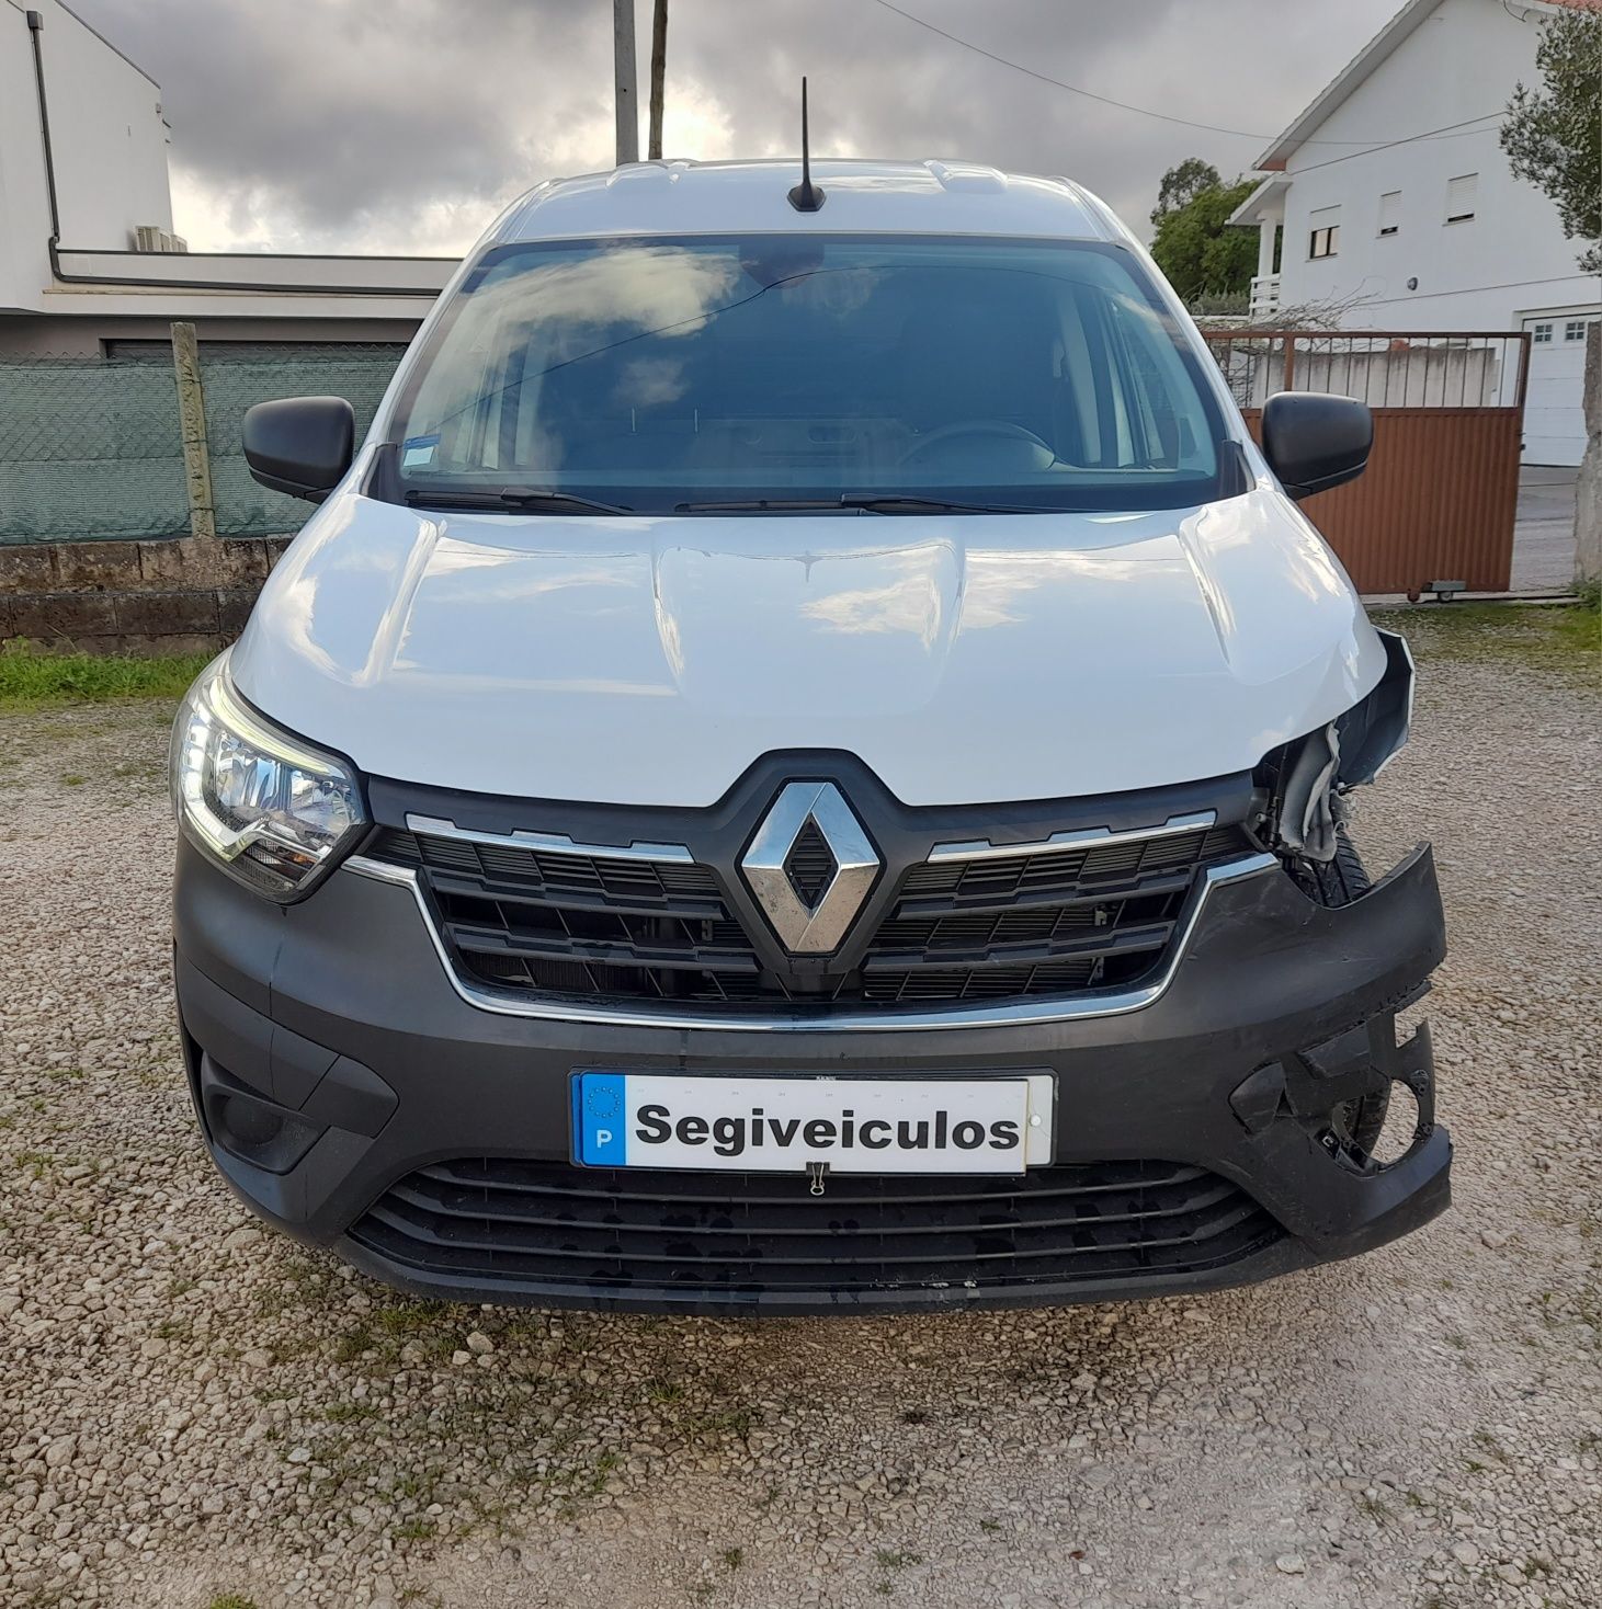
[[[1209,330],[1253,436],[1275,391],[1333,391],[1373,409],[1373,457],[1303,507],[1359,592],[1462,581],[1505,592],[1513,566],[1530,336]]]

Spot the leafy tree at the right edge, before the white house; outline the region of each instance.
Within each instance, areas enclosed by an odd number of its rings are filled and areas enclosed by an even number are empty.
[[[1565,11],[1541,29],[1544,88],[1520,84],[1502,150],[1520,179],[1557,203],[1563,233],[1586,241],[1579,267],[1602,274],[1602,11]]]

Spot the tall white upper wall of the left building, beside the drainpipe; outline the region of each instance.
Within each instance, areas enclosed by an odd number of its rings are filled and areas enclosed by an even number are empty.
[[[58,0],[31,5],[45,23],[63,245],[127,248],[138,224],[171,228],[161,90]],[[0,0],[0,307],[37,306],[48,237],[32,40],[24,6]]]

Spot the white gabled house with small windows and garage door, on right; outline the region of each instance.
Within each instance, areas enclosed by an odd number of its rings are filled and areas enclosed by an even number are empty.
[[[1536,40],[1602,0],[1407,0],[1264,151],[1235,214],[1261,230],[1253,312],[1332,309],[1362,330],[1530,330],[1525,462],[1584,451],[1586,325],[1602,282],[1497,143]]]

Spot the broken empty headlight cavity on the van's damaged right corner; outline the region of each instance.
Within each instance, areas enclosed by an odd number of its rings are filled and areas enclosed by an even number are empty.
[[[1332,862],[1341,842],[1341,795],[1373,782],[1407,742],[1412,653],[1396,632],[1378,637],[1386,666],[1373,690],[1328,726],[1282,743],[1257,769],[1257,830],[1283,854]]]

